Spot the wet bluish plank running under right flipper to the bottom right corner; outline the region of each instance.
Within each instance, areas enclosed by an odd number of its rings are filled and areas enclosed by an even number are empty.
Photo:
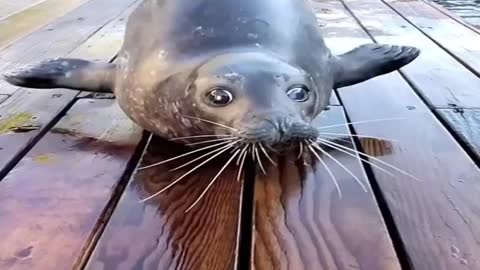
[[[332,50],[344,52],[342,46],[336,49],[337,44],[352,45],[362,35],[368,41],[340,2],[316,2],[315,6]],[[371,160],[395,175],[373,168],[407,256],[402,260],[410,269],[480,269],[480,171],[474,162],[398,73],[339,93],[352,122],[405,119],[352,125],[358,134],[397,140],[377,158],[420,179]],[[368,144],[362,146],[369,154],[379,153]]]

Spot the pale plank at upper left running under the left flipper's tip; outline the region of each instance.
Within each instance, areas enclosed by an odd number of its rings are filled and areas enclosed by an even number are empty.
[[[137,0],[91,0],[0,52],[0,74],[38,61],[64,56]],[[0,80],[0,94],[19,88]]]

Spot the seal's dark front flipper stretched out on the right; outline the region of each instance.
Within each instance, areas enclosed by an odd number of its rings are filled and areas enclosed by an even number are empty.
[[[337,57],[334,88],[353,85],[398,70],[419,54],[419,49],[409,46],[359,46]]]

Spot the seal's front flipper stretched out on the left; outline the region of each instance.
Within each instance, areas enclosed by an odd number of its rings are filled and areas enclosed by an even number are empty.
[[[89,92],[112,92],[114,76],[115,64],[72,58],[47,60],[4,75],[16,86]]]

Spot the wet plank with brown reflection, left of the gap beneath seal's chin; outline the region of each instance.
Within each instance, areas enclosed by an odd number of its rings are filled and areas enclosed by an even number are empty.
[[[180,153],[185,149],[154,137],[140,166]],[[228,157],[212,160],[166,192],[141,202],[200,164],[170,171],[191,159],[137,171],[86,269],[236,269],[243,182],[236,181],[237,168],[228,166],[205,197],[185,213]]]

